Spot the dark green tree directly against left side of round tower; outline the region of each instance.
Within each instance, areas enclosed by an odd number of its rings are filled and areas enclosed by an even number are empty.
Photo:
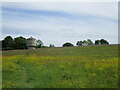
[[[20,36],[20,37],[16,37],[14,40],[15,40],[15,49],[27,49],[26,38]]]

